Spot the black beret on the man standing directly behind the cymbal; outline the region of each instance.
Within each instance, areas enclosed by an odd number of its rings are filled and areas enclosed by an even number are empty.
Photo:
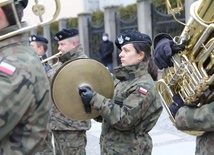
[[[73,28],[62,29],[61,31],[59,31],[54,35],[54,40],[61,41],[66,38],[74,37],[77,34],[79,34],[77,29],[73,29]]]

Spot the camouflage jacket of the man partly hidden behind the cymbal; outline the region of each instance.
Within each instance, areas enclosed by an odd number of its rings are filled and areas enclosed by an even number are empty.
[[[78,46],[75,50],[70,51],[70,55],[70,60],[87,58],[81,46]],[[61,65],[62,63],[59,63],[59,65],[53,68],[51,78],[53,78],[53,75],[61,67]],[[50,110],[49,127],[51,130],[88,130],[91,127],[91,121],[79,121],[68,118],[63,115],[54,104],[52,104]]]

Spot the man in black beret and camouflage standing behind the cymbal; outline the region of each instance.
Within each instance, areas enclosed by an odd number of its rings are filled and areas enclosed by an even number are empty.
[[[62,56],[60,57],[61,63],[58,63],[56,67],[51,69],[52,75],[55,74],[63,63],[69,60],[87,58],[80,44],[77,29],[63,29],[55,34],[54,40],[58,42],[58,50],[62,52]],[[86,131],[91,127],[90,120],[79,121],[68,118],[53,104],[50,110],[49,126],[55,138],[57,154],[86,154]]]

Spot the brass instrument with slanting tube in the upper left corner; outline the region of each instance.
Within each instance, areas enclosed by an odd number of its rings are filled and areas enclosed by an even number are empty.
[[[38,26],[44,26],[46,24],[50,24],[52,21],[54,21],[57,18],[57,16],[59,15],[59,12],[60,12],[60,0],[53,0],[53,1],[55,2],[56,9],[51,18],[48,18],[46,20],[42,19],[42,16],[45,13],[45,6],[38,3],[38,0],[35,0],[35,4],[32,6],[32,11],[33,11],[35,17],[37,17],[37,16],[39,17],[39,23],[34,23],[33,25],[23,25],[23,24],[21,24],[21,22],[18,19],[17,12],[16,12],[15,5],[14,5],[14,0],[1,0],[0,7],[5,6],[5,5],[12,6],[13,13],[14,13],[14,16],[16,19],[16,25],[17,25],[18,29],[11,31],[7,34],[1,35],[0,40],[4,40],[4,39],[12,37],[14,35],[28,32]],[[34,18],[34,17],[32,17],[32,18]]]

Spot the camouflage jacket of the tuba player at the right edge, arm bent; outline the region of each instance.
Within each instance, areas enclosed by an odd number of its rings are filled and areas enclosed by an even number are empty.
[[[175,116],[179,130],[202,131],[196,140],[196,155],[214,154],[214,101],[200,108],[181,107]]]

